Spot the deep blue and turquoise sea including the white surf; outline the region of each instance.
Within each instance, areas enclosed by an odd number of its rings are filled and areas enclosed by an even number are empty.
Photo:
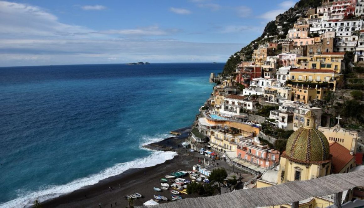
[[[23,207],[175,156],[223,64],[0,68],[0,207]]]

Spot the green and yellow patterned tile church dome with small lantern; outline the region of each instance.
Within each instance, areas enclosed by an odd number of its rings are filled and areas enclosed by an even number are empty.
[[[288,159],[302,163],[321,162],[329,159],[329,142],[325,135],[315,127],[316,115],[308,111],[303,127],[290,135],[285,155]]]

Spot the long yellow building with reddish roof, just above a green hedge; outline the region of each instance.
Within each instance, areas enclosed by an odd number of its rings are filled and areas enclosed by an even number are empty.
[[[293,69],[289,71],[289,79],[292,82],[310,82],[320,84],[327,82],[329,89],[335,91],[336,86],[341,86],[344,75],[336,74],[329,69]]]

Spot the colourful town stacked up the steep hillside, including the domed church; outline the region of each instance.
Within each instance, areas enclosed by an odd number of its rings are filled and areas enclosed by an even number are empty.
[[[217,85],[191,148],[254,175],[244,189],[363,170],[363,15],[364,0],[323,0],[295,12],[288,30],[275,21],[278,35],[253,42],[251,59],[236,54],[231,73],[211,73]],[[356,187],[274,207],[350,207],[363,197]]]

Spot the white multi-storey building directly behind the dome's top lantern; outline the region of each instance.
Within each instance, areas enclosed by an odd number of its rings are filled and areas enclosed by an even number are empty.
[[[296,131],[304,126],[304,115],[309,110],[316,115],[316,127],[321,126],[321,108],[290,100],[280,100],[279,109],[270,111],[269,118],[275,119],[275,124],[281,129]]]

